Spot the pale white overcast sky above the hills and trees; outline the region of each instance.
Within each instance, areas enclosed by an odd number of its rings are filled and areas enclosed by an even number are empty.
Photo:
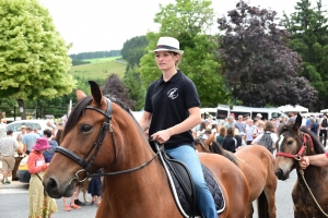
[[[326,0],[323,0],[325,2]],[[156,31],[153,19],[175,0],[39,0],[54,19],[57,31],[73,47],[69,53],[86,51],[120,50],[126,40]],[[216,14],[235,9],[237,0],[212,0]],[[294,11],[297,0],[250,0],[249,5],[271,8],[282,17]],[[312,0],[315,5],[316,0]],[[327,5],[325,7],[327,8]],[[214,23],[216,26],[216,24]],[[215,32],[216,27],[213,26]]]

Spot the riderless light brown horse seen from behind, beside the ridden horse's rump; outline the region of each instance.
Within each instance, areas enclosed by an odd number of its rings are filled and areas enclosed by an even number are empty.
[[[276,217],[276,190],[278,179],[274,174],[274,157],[259,145],[243,146],[235,154],[227,152],[213,138],[195,140],[196,149],[200,153],[211,152],[233,161],[244,172],[249,184],[249,201],[246,217],[253,217],[253,202],[257,199],[258,217]]]

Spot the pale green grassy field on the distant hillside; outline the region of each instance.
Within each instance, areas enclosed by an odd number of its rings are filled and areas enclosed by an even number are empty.
[[[89,64],[73,65],[69,73],[73,76],[85,78],[107,78],[108,75],[116,73],[122,77],[126,71],[126,62],[117,61],[120,57],[101,58],[101,59],[85,59],[90,61]]]

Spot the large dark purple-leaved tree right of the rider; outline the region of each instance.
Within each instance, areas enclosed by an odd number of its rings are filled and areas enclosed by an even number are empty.
[[[276,24],[276,11],[249,7],[244,1],[218,20],[222,35],[224,77],[232,96],[243,105],[304,105],[316,90],[300,77],[301,57],[288,48],[289,33]]]

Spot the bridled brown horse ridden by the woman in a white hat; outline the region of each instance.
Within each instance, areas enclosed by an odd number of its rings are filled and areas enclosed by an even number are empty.
[[[96,83],[90,84],[92,96],[78,97],[44,175],[48,194],[71,196],[77,182],[103,168],[104,193],[96,217],[183,217],[162,162],[129,109],[105,98]],[[221,184],[225,209],[220,218],[245,217],[249,191],[242,171],[224,157],[199,158]]]

